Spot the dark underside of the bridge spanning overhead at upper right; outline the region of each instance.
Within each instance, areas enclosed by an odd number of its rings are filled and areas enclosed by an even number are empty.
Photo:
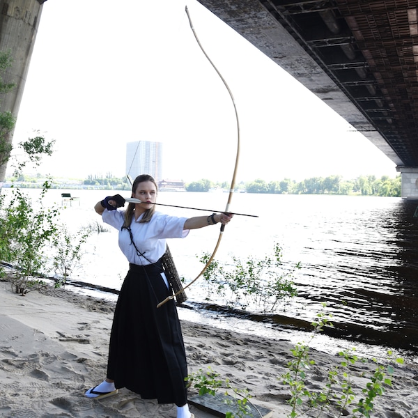
[[[418,0],[198,1],[362,132],[418,198]]]

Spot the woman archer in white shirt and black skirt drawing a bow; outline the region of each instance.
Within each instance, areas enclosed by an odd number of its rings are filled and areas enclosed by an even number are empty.
[[[157,184],[146,174],[132,185],[129,203],[122,196],[108,196],[96,203],[95,211],[119,231],[119,247],[130,263],[116,304],[111,328],[107,377],[88,389],[89,398],[104,398],[126,387],[144,399],[176,403],[177,418],[194,417],[187,405],[187,363],[183,336],[160,258],[166,238],[185,238],[190,229],[227,224],[232,215],[218,213],[200,217],[172,217],[155,211]]]

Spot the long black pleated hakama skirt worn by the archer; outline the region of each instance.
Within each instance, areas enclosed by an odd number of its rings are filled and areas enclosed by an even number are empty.
[[[174,300],[160,262],[130,264],[116,303],[107,378],[158,403],[187,403],[187,362]]]

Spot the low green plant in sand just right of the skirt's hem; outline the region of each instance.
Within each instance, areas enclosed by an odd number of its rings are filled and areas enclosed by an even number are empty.
[[[219,373],[215,373],[211,367],[208,367],[206,371],[199,369],[198,372],[187,376],[185,380],[199,392],[199,396],[206,394],[215,396],[219,391],[222,391],[224,394],[223,401],[230,409],[229,412],[226,412],[226,418],[254,417],[250,405],[254,410],[257,410],[257,408],[249,401],[251,395],[248,390],[233,388],[229,379],[222,380],[219,379],[219,376]],[[258,416],[263,418],[260,412],[258,412]]]

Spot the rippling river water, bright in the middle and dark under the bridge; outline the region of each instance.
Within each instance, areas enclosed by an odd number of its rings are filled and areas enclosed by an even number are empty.
[[[3,189],[4,193],[10,190]],[[39,190],[27,191],[37,196]],[[108,194],[98,190],[57,190],[47,193],[48,205],[61,206],[61,192],[79,197],[62,211],[72,229],[102,223],[93,206]],[[119,192],[129,196],[128,192]],[[160,192],[159,203],[223,210],[222,192]],[[339,350],[356,346],[360,352],[382,353],[394,348],[415,357],[418,353],[418,201],[373,196],[244,194],[233,196],[231,211],[258,215],[235,216],[226,227],[217,260],[229,263],[231,254],[263,258],[274,243],[283,249],[285,268],[300,262],[295,272],[298,295],[279,305],[274,314],[238,315],[213,309],[200,283],[187,289],[180,318],[277,339],[307,339],[309,324],[322,304],[332,314],[333,328],[316,338],[316,346]],[[172,215],[205,212],[159,206]],[[210,213],[208,212],[208,213]],[[199,257],[215,247],[218,226],[191,231],[169,247],[180,276],[194,279],[203,265]],[[117,245],[117,231],[93,233],[82,264],[71,280],[86,295],[116,300],[116,294],[97,286],[121,287],[127,261]]]

